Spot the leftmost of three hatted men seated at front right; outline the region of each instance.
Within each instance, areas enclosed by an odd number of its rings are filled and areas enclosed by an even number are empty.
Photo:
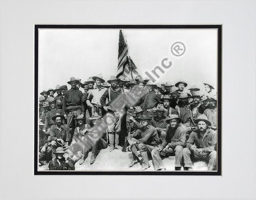
[[[139,161],[139,155],[137,153],[137,150],[139,150],[142,155],[142,159],[140,160],[142,168],[140,170],[145,170],[150,167],[148,152],[151,153],[151,151],[159,145],[159,137],[155,127],[149,125],[149,120],[151,120],[151,116],[149,116],[149,114],[142,114],[137,119],[140,121],[142,128],[137,129],[135,133],[131,134],[127,138],[131,145],[134,159],[129,166],[133,166]],[[135,139],[135,137],[139,137],[139,139]]]

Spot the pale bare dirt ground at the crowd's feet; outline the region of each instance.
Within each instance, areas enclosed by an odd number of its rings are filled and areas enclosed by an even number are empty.
[[[122,152],[120,149],[114,149],[112,152],[107,149],[101,149],[98,154],[94,164],[90,165],[91,152],[89,152],[88,158],[82,165],[79,165],[78,162],[75,163],[76,171],[138,171],[141,166],[140,163],[137,163],[132,168],[128,165],[132,161],[131,152]],[[163,159],[165,168],[167,171],[174,171],[175,156],[169,156],[168,158]],[[146,171],[154,171],[152,160],[149,160],[150,168]],[[40,166],[39,170],[49,170],[48,163],[46,165]],[[204,162],[195,162],[192,171],[207,171],[207,165]],[[183,171],[183,168],[181,168]]]

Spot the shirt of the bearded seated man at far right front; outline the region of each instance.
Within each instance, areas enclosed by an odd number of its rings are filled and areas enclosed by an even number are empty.
[[[216,143],[216,132],[207,129],[204,136],[201,137],[199,130],[197,130],[190,133],[190,137],[187,140],[187,148],[191,149],[191,146],[195,144],[198,149],[203,148],[203,152],[212,152],[215,150]]]

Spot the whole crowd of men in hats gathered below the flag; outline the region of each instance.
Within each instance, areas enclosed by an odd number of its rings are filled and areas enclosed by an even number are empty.
[[[109,84],[108,84],[109,83]],[[178,81],[173,85],[136,77],[101,74],[81,79],[71,77],[39,97],[39,163],[49,170],[75,170],[92,151],[90,164],[100,149],[132,152],[132,168],[140,163],[164,171],[162,158],[175,156],[175,170],[193,168],[204,160],[216,170],[217,95],[212,84],[205,91]],[[84,93],[79,88],[84,89]],[[56,95],[55,95],[56,93]],[[127,163],[128,165],[128,163]]]

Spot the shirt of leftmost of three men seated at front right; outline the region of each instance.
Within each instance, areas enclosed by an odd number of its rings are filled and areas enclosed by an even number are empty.
[[[145,145],[158,146],[159,145],[159,137],[156,132],[155,127],[148,125],[146,127],[142,127],[141,129],[136,130],[135,133],[131,134],[127,137],[129,140],[132,137],[138,136],[139,143],[143,143]]]

